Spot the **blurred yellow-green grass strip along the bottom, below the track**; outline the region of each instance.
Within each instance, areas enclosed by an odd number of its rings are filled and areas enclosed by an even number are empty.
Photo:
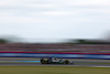
[[[110,68],[78,66],[0,66],[0,74],[110,74]]]

